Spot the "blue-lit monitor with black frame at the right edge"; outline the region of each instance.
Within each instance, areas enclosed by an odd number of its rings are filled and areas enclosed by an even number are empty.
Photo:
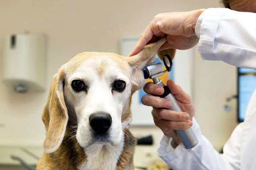
[[[244,121],[245,111],[256,88],[256,70],[238,68],[238,122]]]

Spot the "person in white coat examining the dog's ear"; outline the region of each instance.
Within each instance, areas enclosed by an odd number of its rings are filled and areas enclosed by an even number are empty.
[[[232,10],[209,8],[158,14],[130,55],[137,54],[148,42],[166,37],[167,42],[161,49],[189,49],[199,42],[202,59],[222,60],[237,67],[256,69],[256,0],[229,0],[224,4]],[[183,111],[192,119],[194,106],[189,95],[172,80],[167,85]],[[147,83],[144,90],[149,94],[162,94],[164,91],[153,83]],[[202,136],[195,118],[190,125],[186,113],[160,109],[169,108],[167,99],[145,95],[142,102],[153,107],[154,122],[164,133],[158,154],[172,169],[256,170],[256,91],[250,99],[244,122],[235,128],[224,145],[222,155]],[[191,126],[199,143],[186,150],[173,129],[183,130]]]

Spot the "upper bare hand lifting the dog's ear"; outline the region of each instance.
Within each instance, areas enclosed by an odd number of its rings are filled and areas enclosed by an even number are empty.
[[[166,43],[159,49],[189,49],[198,43],[195,25],[204,9],[188,12],[157,14],[140,36],[137,45],[129,56],[138,54],[146,44],[166,37]]]

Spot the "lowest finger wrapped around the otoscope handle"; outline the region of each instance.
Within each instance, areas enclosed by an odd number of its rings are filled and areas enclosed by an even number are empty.
[[[183,122],[173,122],[164,119],[157,119],[154,118],[154,123],[157,125],[161,130],[185,130],[192,126],[192,121],[183,121]]]

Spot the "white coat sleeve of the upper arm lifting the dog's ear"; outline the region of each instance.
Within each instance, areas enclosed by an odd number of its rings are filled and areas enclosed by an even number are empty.
[[[256,69],[256,13],[227,8],[206,9],[198,18],[195,33],[202,59],[221,60]]]

